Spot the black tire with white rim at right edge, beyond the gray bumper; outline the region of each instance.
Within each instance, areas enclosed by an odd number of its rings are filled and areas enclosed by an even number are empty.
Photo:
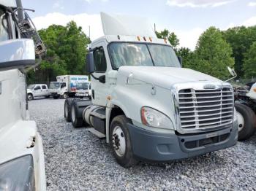
[[[255,133],[255,113],[249,106],[235,104],[238,114],[238,141],[249,139]]]

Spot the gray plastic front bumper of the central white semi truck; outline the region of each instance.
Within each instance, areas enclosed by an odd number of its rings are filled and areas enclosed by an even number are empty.
[[[135,157],[148,161],[169,161],[202,155],[236,145],[238,124],[197,135],[155,133],[127,124]]]

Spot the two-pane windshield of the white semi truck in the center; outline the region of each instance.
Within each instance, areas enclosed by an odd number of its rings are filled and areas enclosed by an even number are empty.
[[[110,44],[113,66],[165,66],[181,67],[173,48],[160,44],[116,42]]]

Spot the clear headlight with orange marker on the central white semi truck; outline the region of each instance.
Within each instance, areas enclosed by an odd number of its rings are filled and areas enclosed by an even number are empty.
[[[173,129],[169,117],[150,107],[143,106],[141,109],[141,121],[144,125],[150,127]]]

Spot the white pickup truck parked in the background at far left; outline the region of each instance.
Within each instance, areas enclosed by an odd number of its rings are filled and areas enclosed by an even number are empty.
[[[41,85],[41,84],[28,85],[26,91],[28,95],[28,100],[32,100],[36,97],[45,97],[45,98],[50,97],[50,91],[48,90],[47,85]]]

